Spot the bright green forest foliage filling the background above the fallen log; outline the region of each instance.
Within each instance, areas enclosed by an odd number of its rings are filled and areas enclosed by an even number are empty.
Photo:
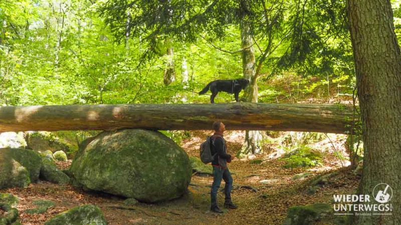
[[[243,76],[240,51],[216,48],[241,48],[241,21],[264,60],[260,102],[348,97],[355,77],[345,1],[264,2],[2,0],[0,104],[209,102],[197,94],[208,82]],[[399,33],[400,2],[391,2]],[[165,86],[167,47],[176,81]]]

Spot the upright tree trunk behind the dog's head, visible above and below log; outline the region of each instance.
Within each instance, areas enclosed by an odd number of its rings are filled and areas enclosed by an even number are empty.
[[[249,102],[258,102],[258,84],[255,78],[255,51],[252,45],[250,26],[244,17],[241,21],[241,48],[244,49],[242,51],[242,70],[244,77],[250,80],[249,86],[245,89],[244,98]],[[261,151],[259,140],[262,140],[262,134],[259,130],[247,130],[245,142],[240,153],[245,155],[259,153]]]

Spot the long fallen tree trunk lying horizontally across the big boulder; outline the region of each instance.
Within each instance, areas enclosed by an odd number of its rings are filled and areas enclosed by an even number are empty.
[[[222,120],[231,130],[344,133],[352,106],[333,104],[92,104],[0,107],[0,132],[146,128],[212,129]]]

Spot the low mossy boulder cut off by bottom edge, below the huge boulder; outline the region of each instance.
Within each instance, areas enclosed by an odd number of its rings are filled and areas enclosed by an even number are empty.
[[[62,212],[45,222],[45,225],[107,225],[103,212],[93,204],[85,204]]]

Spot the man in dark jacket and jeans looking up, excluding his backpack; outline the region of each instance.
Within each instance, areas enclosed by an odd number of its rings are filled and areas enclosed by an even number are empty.
[[[224,186],[224,194],[226,199],[224,201],[224,206],[226,208],[237,208],[231,201],[231,190],[233,189],[233,177],[229,168],[227,167],[227,162],[231,162],[234,156],[227,153],[226,140],[223,138],[223,132],[226,130],[226,126],[221,121],[216,121],[213,123],[213,129],[215,133],[213,134],[211,152],[215,155],[212,161],[213,166],[213,184],[211,190],[211,210],[217,213],[223,213],[223,211],[217,205],[217,191],[220,188],[222,179],[226,182]]]

